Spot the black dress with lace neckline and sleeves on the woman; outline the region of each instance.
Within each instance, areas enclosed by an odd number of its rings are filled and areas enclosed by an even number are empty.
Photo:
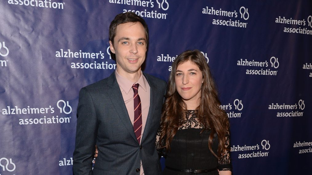
[[[218,170],[232,170],[229,151],[222,154],[221,158],[216,158],[208,148],[208,137],[211,130],[204,130],[203,126],[196,118],[196,111],[187,110],[186,118],[178,128],[176,135],[171,142],[171,151],[166,152],[160,147],[163,141],[159,140],[160,133],[157,134],[156,144],[159,154],[165,154],[166,168],[163,175],[184,175],[190,173],[178,172],[168,169],[194,169],[212,170],[208,173],[198,173],[200,175],[218,175]],[[229,136],[227,136],[226,146],[229,146]],[[217,153],[218,139],[213,139],[212,150]],[[215,170],[213,170],[215,169]],[[196,173],[197,174],[197,173]]]

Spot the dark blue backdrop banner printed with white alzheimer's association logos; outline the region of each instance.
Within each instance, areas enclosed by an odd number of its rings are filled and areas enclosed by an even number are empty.
[[[116,62],[108,29],[149,26],[144,72],[168,80],[199,49],[231,124],[234,175],[312,174],[312,2],[2,0],[0,174],[72,174],[81,87]]]

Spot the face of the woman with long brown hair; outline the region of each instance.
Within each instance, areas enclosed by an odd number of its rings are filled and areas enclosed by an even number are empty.
[[[197,103],[201,97],[202,82],[202,72],[196,64],[188,60],[178,65],[175,72],[175,84],[178,93],[186,104],[189,102]]]

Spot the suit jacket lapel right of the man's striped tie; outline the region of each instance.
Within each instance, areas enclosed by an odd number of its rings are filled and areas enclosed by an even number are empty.
[[[145,128],[144,128],[144,132],[143,132],[143,136],[142,136],[142,141],[141,143],[145,140],[146,136],[148,135],[148,131],[150,129],[150,125],[152,123],[153,120],[153,114],[154,114],[154,110],[155,110],[155,98],[156,98],[156,92],[157,92],[157,86],[156,84],[151,81],[149,79],[148,76],[146,76],[145,73],[143,73],[147,82],[149,83],[149,87],[150,87],[150,102],[149,102],[149,114],[147,115],[147,119],[146,119],[146,123],[145,123]]]

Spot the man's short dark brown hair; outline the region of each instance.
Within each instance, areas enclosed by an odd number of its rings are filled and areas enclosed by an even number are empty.
[[[125,12],[125,13],[120,13],[116,15],[114,20],[110,23],[110,34],[109,34],[109,39],[114,44],[114,37],[116,35],[116,28],[119,24],[124,24],[128,22],[140,22],[144,29],[145,29],[145,34],[146,34],[146,46],[149,44],[149,28],[147,27],[146,22],[144,21],[143,18],[139,17],[136,15],[134,12]]]

